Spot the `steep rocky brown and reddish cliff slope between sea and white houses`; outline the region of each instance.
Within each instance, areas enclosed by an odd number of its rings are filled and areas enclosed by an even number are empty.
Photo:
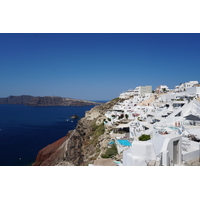
[[[87,111],[76,129],[38,153],[34,165],[83,166],[93,163],[105,151],[110,139],[109,130],[103,125],[104,114],[118,101],[114,99]]]

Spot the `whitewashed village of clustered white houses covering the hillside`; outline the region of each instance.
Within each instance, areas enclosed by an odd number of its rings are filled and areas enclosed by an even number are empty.
[[[183,165],[200,155],[200,87],[139,86],[120,94],[105,114],[122,166]],[[142,141],[142,138],[144,139]]]

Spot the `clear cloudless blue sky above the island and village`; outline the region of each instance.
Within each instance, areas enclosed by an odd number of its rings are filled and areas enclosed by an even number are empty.
[[[0,97],[110,100],[199,79],[198,33],[0,34]]]

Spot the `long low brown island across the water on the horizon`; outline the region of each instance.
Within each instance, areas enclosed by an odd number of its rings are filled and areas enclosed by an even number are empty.
[[[0,98],[0,104],[18,104],[25,106],[89,106],[101,103],[57,96],[34,97],[30,95]]]

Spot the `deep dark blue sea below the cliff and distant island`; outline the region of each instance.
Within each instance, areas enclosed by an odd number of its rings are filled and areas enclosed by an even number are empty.
[[[43,147],[75,129],[93,107],[0,105],[0,166],[31,166]]]

